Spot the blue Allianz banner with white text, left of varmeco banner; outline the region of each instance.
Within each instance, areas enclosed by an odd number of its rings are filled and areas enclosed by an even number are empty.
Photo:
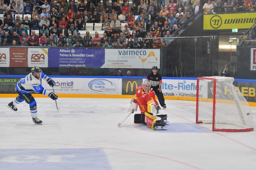
[[[100,68],[105,61],[105,49],[48,49],[48,67]]]

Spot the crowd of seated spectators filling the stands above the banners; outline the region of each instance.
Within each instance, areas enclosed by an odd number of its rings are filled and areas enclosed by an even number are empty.
[[[181,0],[170,0],[165,8],[164,0],[159,0],[158,8],[154,0],[134,0],[132,7],[126,0],[123,4],[112,0],[112,5],[106,0],[103,4],[100,0],[81,0],[79,4],[73,0],[0,0],[0,14],[4,14],[1,46],[159,48],[168,42],[159,37],[178,35],[176,30],[198,12],[233,12],[250,2],[254,5],[253,0],[206,1],[187,0],[183,5]],[[24,14],[23,19],[17,14]],[[86,23],[102,23],[103,37],[97,32],[92,37],[90,31],[81,37],[79,31],[85,30]],[[123,29],[121,23],[125,23]],[[143,37],[154,39],[143,41]]]

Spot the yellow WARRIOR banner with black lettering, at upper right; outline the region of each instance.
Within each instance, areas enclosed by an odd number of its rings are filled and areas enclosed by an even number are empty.
[[[255,12],[204,15],[204,30],[249,29],[256,21]]]

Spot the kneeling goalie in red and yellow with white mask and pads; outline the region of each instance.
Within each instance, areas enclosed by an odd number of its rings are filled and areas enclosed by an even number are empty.
[[[137,87],[128,112],[133,112],[133,110],[136,112],[139,106],[141,114],[134,115],[134,123],[147,124],[152,130],[166,130],[167,115],[159,115],[160,107],[155,98],[156,94],[150,87],[151,84],[148,80]]]

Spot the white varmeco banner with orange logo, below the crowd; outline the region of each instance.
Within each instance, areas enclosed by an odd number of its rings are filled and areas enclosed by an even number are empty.
[[[105,49],[101,68],[160,68],[160,49]]]

